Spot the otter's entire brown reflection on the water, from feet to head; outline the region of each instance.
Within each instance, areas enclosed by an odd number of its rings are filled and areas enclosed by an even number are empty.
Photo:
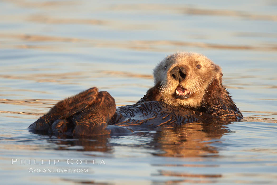
[[[68,138],[58,136],[58,140],[48,142],[57,144],[56,149],[68,150],[78,147],[81,151],[112,152],[114,146],[127,146],[135,148],[154,149],[155,156],[163,157],[196,157],[217,156],[218,149],[209,144],[219,142],[222,135],[229,131],[225,129],[228,122],[186,123],[183,126],[162,126],[158,130],[135,132],[132,136],[145,138],[142,143],[124,144],[120,135],[104,135],[97,137]],[[122,136],[122,135],[121,135]],[[123,135],[124,136],[124,135]],[[118,140],[114,142],[114,140]],[[120,143],[120,139],[123,141]]]

